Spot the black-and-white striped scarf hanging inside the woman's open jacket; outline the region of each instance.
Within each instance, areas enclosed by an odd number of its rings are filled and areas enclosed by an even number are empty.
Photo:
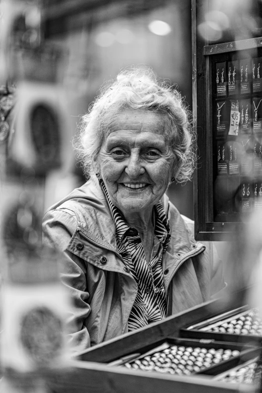
[[[105,184],[101,179],[99,184],[115,224],[118,252],[138,285],[138,294],[128,318],[128,331],[132,331],[166,317],[166,295],[165,291],[154,292],[152,276],[138,231],[130,228],[123,220],[120,211],[110,201]],[[155,287],[164,288],[162,255],[168,247],[171,235],[170,226],[160,201],[154,206],[154,214],[155,234],[150,264]]]

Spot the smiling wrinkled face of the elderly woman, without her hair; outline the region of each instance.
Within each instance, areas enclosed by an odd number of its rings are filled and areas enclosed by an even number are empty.
[[[152,209],[168,187],[174,157],[164,123],[159,113],[126,109],[114,115],[106,129],[99,172],[123,214]]]

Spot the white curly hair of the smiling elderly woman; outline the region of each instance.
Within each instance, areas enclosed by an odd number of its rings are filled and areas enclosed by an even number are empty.
[[[73,140],[77,158],[87,176],[97,171],[97,157],[110,119],[124,109],[165,114],[165,137],[174,156],[173,181],[191,179],[195,168],[195,136],[191,112],[181,94],[152,69],[132,68],[121,71],[115,80],[101,87],[101,94],[82,116],[79,132]]]

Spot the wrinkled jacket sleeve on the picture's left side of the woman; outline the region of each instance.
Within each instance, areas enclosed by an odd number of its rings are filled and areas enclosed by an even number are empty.
[[[61,280],[68,288],[73,303],[67,320],[69,341],[75,353],[79,353],[90,347],[90,337],[84,321],[91,310],[87,303],[89,294],[86,288],[85,262],[66,250],[76,228],[76,216],[66,209],[50,210],[43,219],[44,244],[63,251]]]

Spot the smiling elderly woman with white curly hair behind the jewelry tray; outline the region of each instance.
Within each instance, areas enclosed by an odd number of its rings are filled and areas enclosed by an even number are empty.
[[[118,75],[84,116],[77,149],[90,179],[44,218],[66,254],[62,281],[77,350],[210,299],[224,286],[212,243],[165,194],[188,180],[192,132],[180,94],[149,71]]]

